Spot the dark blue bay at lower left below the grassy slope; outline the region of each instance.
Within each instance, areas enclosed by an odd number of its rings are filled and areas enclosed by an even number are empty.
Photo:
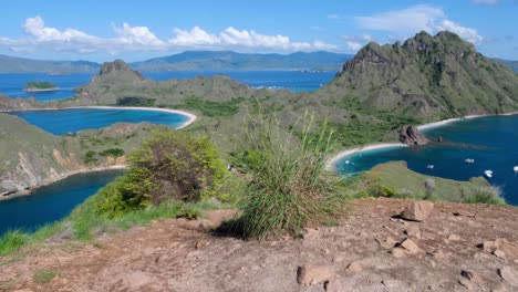
[[[38,188],[30,196],[0,201],[0,236],[12,229],[33,231],[66,217],[75,206],[122,174],[122,170],[79,174]]]

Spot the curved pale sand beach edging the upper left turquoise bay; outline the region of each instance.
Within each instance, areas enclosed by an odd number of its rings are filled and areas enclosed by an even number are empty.
[[[46,108],[21,108],[21,109],[0,109],[0,113],[9,112],[30,112],[30,111],[60,111],[60,109],[81,109],[81,108],[97,108],[97,109],[123,109],[123,111],[152,111],[152,112],[163,112],[169,114],[178,114],[187,117],[187,121],[184,122],[176,129],[185,128],[188,125],[193,124],[198,116],[193,113],[182,111],[182,109],[172,109],[163,107],[145,107],[145,106],[115,106],[115,105],[84,105],[84,106],[66,106],[66,107],[46,107]]]

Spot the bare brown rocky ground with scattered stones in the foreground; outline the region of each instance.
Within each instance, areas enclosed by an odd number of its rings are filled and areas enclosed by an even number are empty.
[[[518,209],[361,199],[335,227],[242,241],[168,219],[0,267],[0,291],[518,291]],[[403,217],[397,217],[412,206]],[[421,218],[419,218],[421,217]],[[45,283],[42,273],[55,274]],[[40,275],[39,275],[40,274]],[[44,277],[43,277],[44,279]]]

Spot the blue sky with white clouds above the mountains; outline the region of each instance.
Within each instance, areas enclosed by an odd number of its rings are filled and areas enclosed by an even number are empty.
[[[3,4],[0,54],[145,60],[186,50],[355,53],[450,30],[488,55],[518,60],[518,0],[17,0]]]

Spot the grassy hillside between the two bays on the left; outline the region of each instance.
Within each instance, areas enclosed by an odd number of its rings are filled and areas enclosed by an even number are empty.
[[[73,170],[124,164],[126,154],[158,127],[165,126],[115,124],[54,136],[0,114],[0,194],[40,186]]]

